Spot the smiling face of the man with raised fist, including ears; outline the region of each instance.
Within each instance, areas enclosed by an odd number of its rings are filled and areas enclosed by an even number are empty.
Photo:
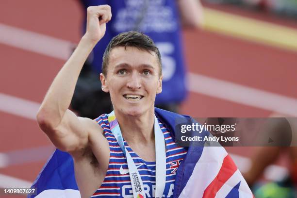
[[[156,54],[135,47],[112,49],[107,75],[100,74],[100,80],[102,90],[110,93],[115,110],[125,115],[153,110],[156,94],[162,92]]]

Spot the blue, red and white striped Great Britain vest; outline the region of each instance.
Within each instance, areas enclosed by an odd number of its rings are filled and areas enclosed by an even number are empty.
[[[104,136],[108,140],[110,148],[110,160],[105,178],[101,186],[97,189],[93,196],[91,196],[91,198],[133,198],[127,160],[122,149],[117,143],[115,136],[109,128],[108,117],[106,114],[103,114],[99,116],[96,121],[103,129]],[[170,132],[168,132],[164,124],[160,123],[159,121],[159,125],[164,134],[166,144],[166,184],[163,197],[173,198],[176,171],[187,151],[185,148],[179,147],[173,141]],[[130,152],[132,159],[141,175],[146,197],[154,198],[156,163],[144,161],[135,152],[133,152],[125,140],[124,144],[127,150]]]

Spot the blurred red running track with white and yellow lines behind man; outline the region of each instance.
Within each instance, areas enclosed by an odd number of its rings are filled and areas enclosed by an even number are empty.
[[[296,1],[202,4],[204,29],[183,30],[190,94],[181,113],[267,117],[278,112],[296,117]],[[29,187],[54,149],[35,114],[81,38],[81,24],[76,0],[0,1],[0,187]],[[258,148],[226,149],[244,172]],[[281,180],[287,167],[282,155],[263,179]]]

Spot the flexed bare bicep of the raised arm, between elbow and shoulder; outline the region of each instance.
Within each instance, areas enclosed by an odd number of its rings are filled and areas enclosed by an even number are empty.
[[[59,149],[66,152],[74,152],[85,148],[88,144],[93,120],[78,117],[72,111],[67,110],[60,124],[55,128],[43,130],[49,136],[51,142]]]

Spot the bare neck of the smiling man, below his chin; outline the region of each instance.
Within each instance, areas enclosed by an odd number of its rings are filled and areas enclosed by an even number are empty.
[[[154,109],[143,115],[124,115],[115,110],[115,116],[119,123],[122,135],[129,144],[151,144],[154,142]]]

